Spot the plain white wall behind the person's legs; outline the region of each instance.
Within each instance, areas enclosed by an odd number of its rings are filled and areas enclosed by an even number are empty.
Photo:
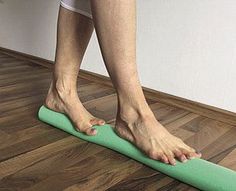
[[[54,60],[59,0],[0,2],[0,46]],[[142,85],[236,112],[236,1],[137,3]],[[82,68],[107,75],[95,34]]]

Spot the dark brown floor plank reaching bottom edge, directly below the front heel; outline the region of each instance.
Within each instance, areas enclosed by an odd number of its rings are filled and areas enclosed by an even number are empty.
[[[63,190],[75,184],[77,186],[82,185],[84,190],[93,190],[94,187],[95,190],[106,190],[107,186],[119,181],[120,177],[129,175],[128,169],[134,170],[139,168],[140,165],[118,153],[104,150],[70,167],[61,168],[59,173],[26,190]],[[127,167],[129,168],[127,169]],[[109,179],[107,175],[111,175],[113,178]],[[63,182],[60,180],[63,180]],[[95,183],[95,185],[90,183]]]

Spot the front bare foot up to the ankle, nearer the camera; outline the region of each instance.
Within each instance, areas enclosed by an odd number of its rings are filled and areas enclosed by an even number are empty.
[[[170,134],[155,118],[146,104],[135,109],[127,104],[118,107],[115,130],[117,134],[135,144],[150,158],[176,164],[176,160],[186,162],[188,159],[201,157],[193,148],[187,146],[180,138]]]

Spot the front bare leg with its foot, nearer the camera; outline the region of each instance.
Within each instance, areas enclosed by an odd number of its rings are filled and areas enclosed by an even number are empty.
[[[174,158],[200,157],[156,120],[145,100],[136,68],[135,0],[90,2],[104,62],[118,95],[118,135],[149,157],[172,165]]]

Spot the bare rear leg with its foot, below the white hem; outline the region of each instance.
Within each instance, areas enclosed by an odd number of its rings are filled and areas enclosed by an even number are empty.
[[[91,19],[60,7],[53,80],[45,101],[48,108],[67,114],[88,135],[96,134],[92,125],[104,124],[83,107],[77,94],[78,71],[93,29]]]

